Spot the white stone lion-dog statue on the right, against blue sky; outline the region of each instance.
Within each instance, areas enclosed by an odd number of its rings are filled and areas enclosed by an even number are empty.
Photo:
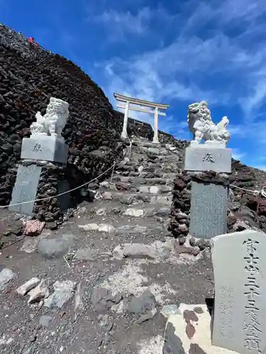
[[[192,144],[199,144],[202,139],[206,144],[221,144],[226,147],[230,140],[230,133],[227,130],[229,120],[223,117],[217,125],[211,120],[211,111],[208,103],[201,101],[189,105],[187,122],[189,130],[193,134]]]

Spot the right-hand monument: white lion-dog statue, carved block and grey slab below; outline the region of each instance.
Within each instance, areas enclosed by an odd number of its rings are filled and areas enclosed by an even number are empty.
[[[189,234],[209,239],[227,232],[228,176],[231,173],[231,149],[228,118],[217,125],[211,120],[207,103],[189,105],[187,122],[193,140],[185,151],[184,170],[192,173]],[[204,144],[201,143],[204,139]],[[204,180],[204,173],[214,171]],[[203,173],[203,174],[202,174]],[[197,176],[201,175],[200,178]]]

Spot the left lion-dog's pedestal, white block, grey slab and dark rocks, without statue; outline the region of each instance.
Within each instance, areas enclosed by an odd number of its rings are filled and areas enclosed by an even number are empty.
[[[9,210],[23,215],[31,215],[36,205],[35,202],[29,201],[52,197],[52,195],[65,191],[66,181],[63,180],[62,169],[67,164],[67,155],[67,144],[55,137],[24,138],[21,148],[21,164],[18,165]],[[48,173],[48,170],[52,171],[53,175]],[[24,204],[19,204],[23,202]],[[46,210],[49,209],[52,202],[53,209],[57,202],[58,205],[60,204],[60,209],[69,205],[69,202],[59,200],[59,198],[58,200],[51,198],[43,203],[38,202],[37,205],[43,205]]]

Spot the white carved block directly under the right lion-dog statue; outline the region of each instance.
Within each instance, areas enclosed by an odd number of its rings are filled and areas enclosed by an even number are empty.
[[[211,147],[210,144],[192,145],[185,150],[184,170],[231,173],[231,159],[231,149]]]

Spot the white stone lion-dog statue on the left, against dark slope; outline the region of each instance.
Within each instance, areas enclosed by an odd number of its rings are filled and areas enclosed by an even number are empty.
[[[61,134],[70,115],[68,108],[67,102],[51,97],[45,115],[36,113],[36,122],[33,122],[30,127],[31,137],[56,137],[64,142],[65,139]]]

